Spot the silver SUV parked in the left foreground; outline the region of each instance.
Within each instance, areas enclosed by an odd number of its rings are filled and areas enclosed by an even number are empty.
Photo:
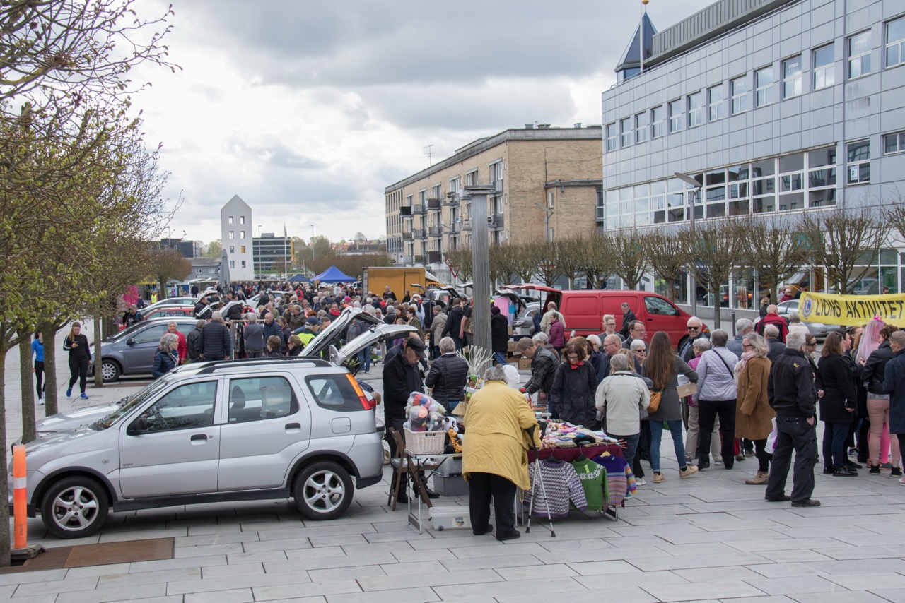
[[[357,488],[383,476],[380,440],[373,399],[345,367],[189,364],[88,426],[29,443],[28,511],[61,538],[97,532],[110,507],[292,497],[307,519],[333,519],[352,502],[352,476]]]

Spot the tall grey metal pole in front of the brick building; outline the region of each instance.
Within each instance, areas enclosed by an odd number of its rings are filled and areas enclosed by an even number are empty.
[[[491,260],[487,218],[487,197],[494,193],[492,186],[466,186],[472,197],[472,281],[474,304],[472,325],[474,344],[491,351]],[[481,367],[483,371],[488,367]]]

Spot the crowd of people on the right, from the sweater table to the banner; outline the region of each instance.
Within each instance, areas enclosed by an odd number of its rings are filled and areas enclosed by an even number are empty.
[[[775,305],[765,306],[757,325],[739,319],[731,338],[721,329],[706,333],[692,316],[676,347],[662,332],[648,343],[645,325],[628,307],[621,331],[606,315],[601,334],[567,341],[558,326],[565,317],[555,304],[545,310],[536,333],[517,344],[532,361],[525,391],[546,400],[554,419],[623,439],[640,485],[642,460],[653,482],[666,479],[666,429],[681,478],[754,457],[757,473],[746,484],[766,486],[767,500],[794,506],[820,504],[811,495],[821,455],[825,475],[858,476],[866,465],[873,476],[902,476],[905,434],[890,434],[905,432],[905,332],[879,318],[828,334],[817,354],[799,316],[779,316]],[[793,452],[795,478],[786,495]]]

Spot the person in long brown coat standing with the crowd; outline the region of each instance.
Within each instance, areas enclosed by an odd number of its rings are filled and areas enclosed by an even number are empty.
[[[745,480],[748,485],[766,485],[770,475],[770,457],[767,452],[767,436],[773,431],[776,412],[767,400],[767,379],[770,361],[767,341],[757,333],[749,333],[742,339],[741,360],[738,361],[738,410],[736,410],[736,437],[754,443],[757,457],[757,475]]]

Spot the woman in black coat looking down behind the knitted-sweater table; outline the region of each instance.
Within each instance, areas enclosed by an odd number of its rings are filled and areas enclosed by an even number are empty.
[[[569,342],[563,348],[566,359],[557,368],[550,390],[550,401],[559,419],[588,429],[595,427],[597,407],[597,373],[586,362],[585,344]]]

